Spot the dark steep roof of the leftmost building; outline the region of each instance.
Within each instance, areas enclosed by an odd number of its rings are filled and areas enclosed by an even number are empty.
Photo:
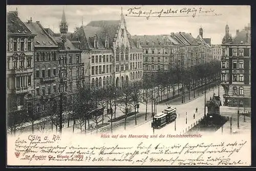
[[[7,33],[32,34],[14,12],[7,12]]]

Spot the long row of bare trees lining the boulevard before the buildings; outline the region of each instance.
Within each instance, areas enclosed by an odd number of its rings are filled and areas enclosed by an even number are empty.
[[[181,94],[184,98],[186,89],[188,92],[193,90],[195,97],[195,89],[198,86],[216,80],[219,76],[220,62],[212,61],[188,69],[176,68],[169,71],[152,72],[150,75],[145,74],[143,81],[124,82],[122,88],[115,87],[114,84],[103,88],[96,88],[88,84],[69,94],[61,93],[52,99],[41,99],[39,103],[36,103],[33,97],[28,97],[24,109],[8,112],[8,129],[11,133],[15,133],[25,122],[29,122],[33,132],[35,120],[40,119],[37,123],[37,130],[43,132],[45,125],[50,121],[51,130],[53,131],[55,127],[55,131],[59,129],[61,132],[65,119],[68,122],[68,127],[73,121],[73,132],[76,125],[79,125],[77,128],[86,133],[90,127],[89,120],[96,124],[98,132],[98,125],[101,122],[103,124],[104,117],[107,117],[111,121],[112,131],[112,120],[116,118],[117,106],[124,114],[124,129],[126,129],[126,118],[133,110],[135,124],[137,124],[136,109],[138,109],[139,103],[143,103],[146,107],[145,120],[147,120],[148,104],[151,103],[151,113],[156,113],[156,104],[162,100],[165,90],[167,90],[167,98],[170,94],[175,96],[175,86],[177,85],[178,95]],[[44,115],[40,113],[44,113]],[[44,119],[42,116],[47,116],[48,119]]]

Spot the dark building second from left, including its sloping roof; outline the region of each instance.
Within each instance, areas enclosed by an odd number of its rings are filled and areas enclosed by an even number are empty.
[[[38,106],[37,115],[47,115],[50,103],[54,103],[58,95],[58,60],[56,41],[46,32],[39,21],[32,18],[24,23],[34,38],[34,104]]]

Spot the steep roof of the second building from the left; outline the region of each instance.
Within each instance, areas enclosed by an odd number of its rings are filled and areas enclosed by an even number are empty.
[[[57,46],[54,39],[48,34],[48,32],[40,25],[39,22],[27,22],[24,23],[35,36],[35,46]]]

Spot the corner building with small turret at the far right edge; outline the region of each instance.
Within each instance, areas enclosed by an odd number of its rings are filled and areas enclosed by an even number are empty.
[[[221,80],[224,105],[250,106],[251,42],[250,25],[232,38],[226,25],[222,40]]]

